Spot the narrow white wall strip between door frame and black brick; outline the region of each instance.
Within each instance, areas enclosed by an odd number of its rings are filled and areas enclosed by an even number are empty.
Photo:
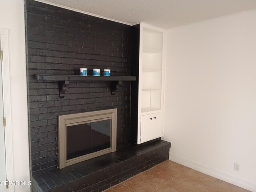
[[[9,29],[14,180],[28,181],[30,177],[23,0],[0,0],[0,28]],[[16,192],[29,190],[29,186],[15,186]]]

